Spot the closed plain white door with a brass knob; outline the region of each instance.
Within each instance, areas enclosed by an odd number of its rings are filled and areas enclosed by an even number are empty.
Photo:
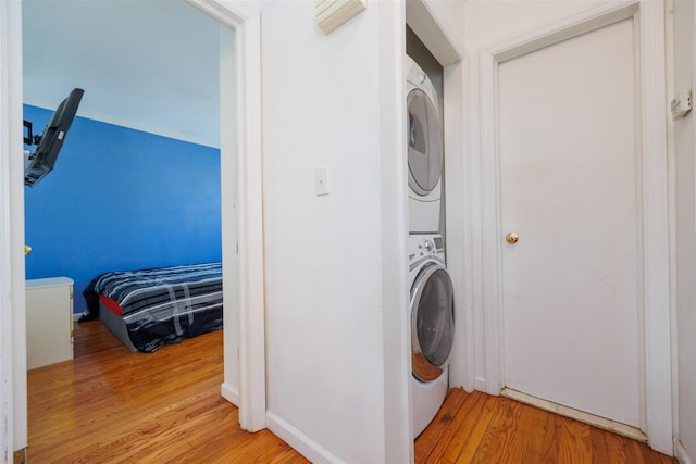
[[[633,20],[500,63],[505,385],[641,426]]]

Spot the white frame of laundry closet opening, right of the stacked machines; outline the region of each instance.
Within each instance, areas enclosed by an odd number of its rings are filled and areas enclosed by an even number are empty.
[[[406,24],[443,66],[443,92],[447,96],[443,101],[444,170],[447,177],[453,179],[445,181],[444,192],[446,198],[451,199],[445,202],[445,241],[447,273],[455,287],[456,319],[455,344],[449,360],[449,385],[473,391],[475,266],[472,253],[473,222],[470,217],[475,210],[476,193],[472,191],[472,186],[475,184],[476,162],[470,155],[470,58],[451,24],[435,3],[430,0],[408,0],[405,8]],[[407,352],[410,352],[410,339]]]

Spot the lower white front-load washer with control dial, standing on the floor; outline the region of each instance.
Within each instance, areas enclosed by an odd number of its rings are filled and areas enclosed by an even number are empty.
[[[452,280],[440,235],[409,237],[413,438],[445,401],[455,341]]]

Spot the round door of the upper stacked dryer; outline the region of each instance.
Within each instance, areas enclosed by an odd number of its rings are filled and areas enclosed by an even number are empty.
[[[409,187],[420,196],[433,190],[443,171],[443,137],[437,111],[421,89],[409,92]]]

